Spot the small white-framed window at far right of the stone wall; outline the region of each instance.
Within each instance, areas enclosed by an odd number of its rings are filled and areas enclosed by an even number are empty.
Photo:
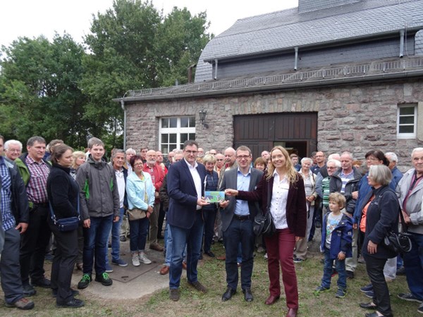
[[[417,135],[417,104],[401,104],[397,111],[397,137],[412,138]]]

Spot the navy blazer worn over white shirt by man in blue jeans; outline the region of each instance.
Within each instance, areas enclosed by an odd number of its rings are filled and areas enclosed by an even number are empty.
[[[204,194],[204,178],[206,168],[201,163],[197,166],[200,174],[202,194]],[[194,225],[197,209],[197,191],[194,180],[185,159],[173,163],[168,170],[167,187],[169,194],[169,209],[167,220],[169,225],[190,229]]]

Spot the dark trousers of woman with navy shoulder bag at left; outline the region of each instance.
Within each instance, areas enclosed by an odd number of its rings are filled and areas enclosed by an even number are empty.
[[[57,290],[57,304],[64,304],[73,298],[71,280],[78,257],[78,229],[59,231],[51,220],[49,226],[56,240],[56,251],[51,266],[51,288]]]

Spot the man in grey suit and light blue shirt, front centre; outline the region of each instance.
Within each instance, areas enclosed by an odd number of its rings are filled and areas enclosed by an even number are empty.
[[[241,146],[236,150],[238,168],[226,170],[219,190],[238,189],[252,191],[262,179],[262,171],[251,168],[252,155],[248,147]],[[241,266],[241,287],[244,298],[252,302],[251,275],[253,266],[253,251],[255,235],[252,224],[259,212],[258,202],[247,202],[229,197],[221,203],[223,240],[226,249],[226,283],[228,288],[222,296],[222,301],[231,299],[238,286],[238,245],[241,245],[243,263]]]

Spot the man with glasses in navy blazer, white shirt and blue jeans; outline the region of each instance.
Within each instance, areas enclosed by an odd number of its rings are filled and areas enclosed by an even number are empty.
[[[184,159],[173,163],[168,170],[167,186],[169,209],[167,221],[172,234],[172,259],[169,270],[169,296],[173,301],[180,297],[179,285],[182,274],[183,251],[187,252],[188,284],[200,292],[207,292],[197,280],[197,263],[200,258],[202,232],[202,206],[208,203],[204,199],[204,179],[206,169],[198,164],[198,144],[188,140],[183,144]]]

